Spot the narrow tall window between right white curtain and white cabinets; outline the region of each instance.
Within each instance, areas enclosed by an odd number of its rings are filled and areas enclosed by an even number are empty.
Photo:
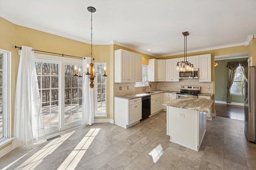
[[[106,63],[95,63],[95,117],[106,117],[106,77],[104,74]]]

